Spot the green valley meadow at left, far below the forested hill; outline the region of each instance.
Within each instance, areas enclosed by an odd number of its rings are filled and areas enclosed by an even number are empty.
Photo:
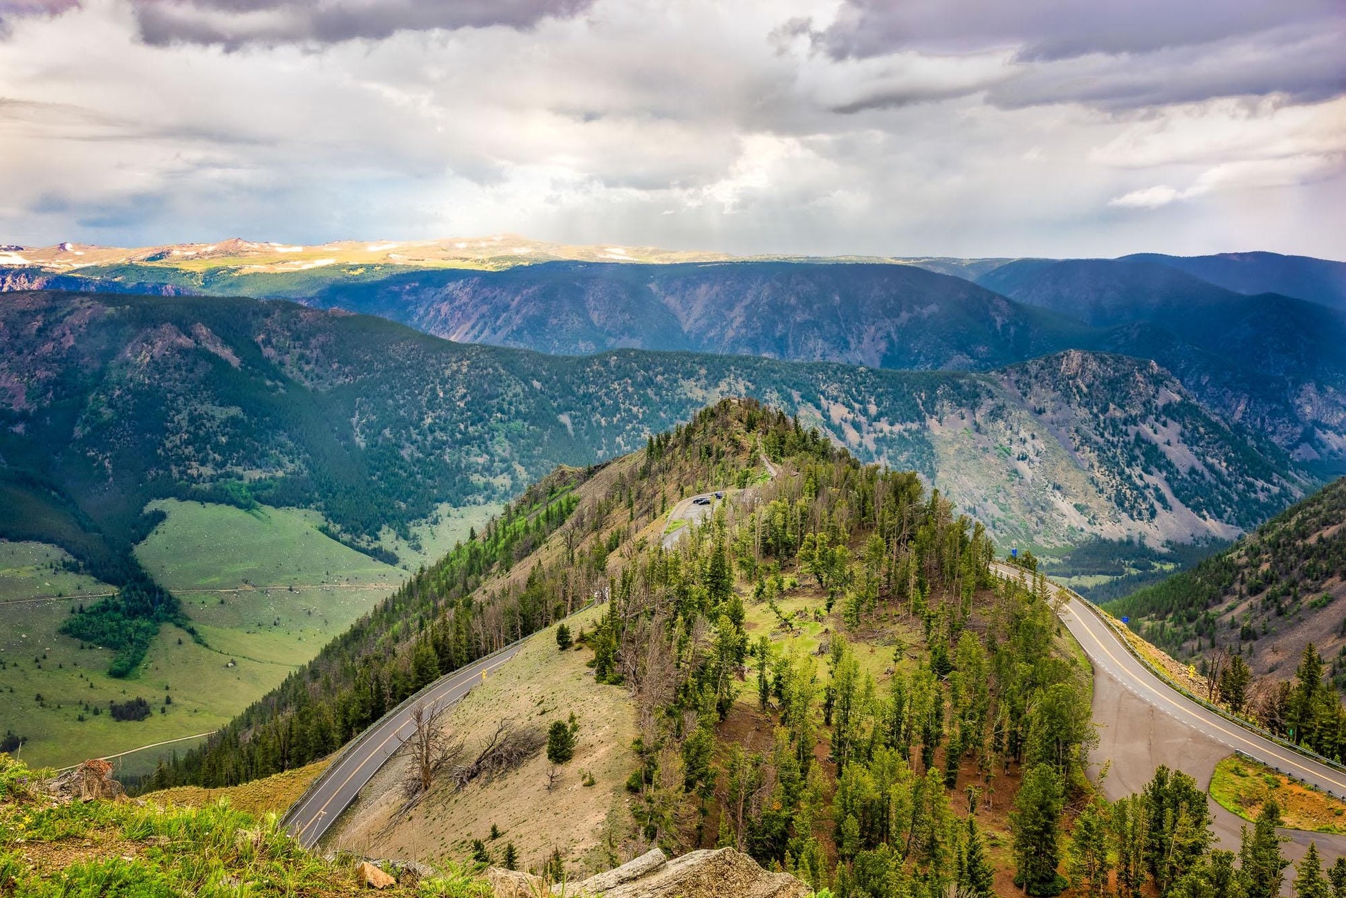
[[[26,761],[62,767],[215,730],[405,578],[405,571],[323,536],[314,512],[244,512],[176,499],[151,508],[167,517],[136,555],[174,590],[206,645],[164,626],[127,680],[105,673],[110,653],[83,649],[57,631],[79,595],[110,587],[65,571],[65,579],[54,579],[52,564],[59,568],[65,559],[55,547],[0,543],[0,599],[9,602],[0,605],[0,731],[12,728],[28,739],[20,750]],[[425,552],[436,552],[489,513],[444,508],[416,536]],[[16,603],[61,591],[75,598]],[[106,714],[108,701],[136,696],[153,705],[148,720],[114,722]],[[96,705],[102,711],[97,716]],[[132,751],[113,763],[118,774],[143,774],[192,745]]]

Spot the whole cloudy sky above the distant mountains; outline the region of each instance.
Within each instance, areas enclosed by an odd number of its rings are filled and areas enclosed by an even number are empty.
[[[1346,258],[1342,0],[0,0],[0,242]]]

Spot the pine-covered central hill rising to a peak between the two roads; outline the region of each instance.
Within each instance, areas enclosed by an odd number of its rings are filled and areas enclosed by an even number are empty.
[[[665,549],[662,512],[715,486],[713,517]],[[1054,880],[1055,863],[992,863],[981,831],[1008,837],[1022,771],[1034,789],[1088,792],[1085,670],[1054,638],[1044,594],[993,586],[992,552],[913,473],[861,467],[779,412],[721,403],[530,490],[156,782],[304,763],[598,594],[606,613],[579,644],[639,727],[629,802],[606,824],[612,851],[734,845],[843,894],[874,876],[927,894],[960,878],[983,891],[1016,872]],[[995,800],[960,820],[964,788],[992,780]],[[443,800],[433,777],[416,800]],[[1061,805],[1047,804],[1055,831]],[[976,871],[953,860],[969,850]]]

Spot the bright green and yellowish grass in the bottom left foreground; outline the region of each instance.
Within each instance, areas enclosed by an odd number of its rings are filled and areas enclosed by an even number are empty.
[[[40,774],[0,754],[0,894],[357,895],[355,864],[304,851],[277,827],[218,801],[202,808],[132,801],[57,804]],[[451,867],[443,878],[382,894],[487,898],[490,887]]]

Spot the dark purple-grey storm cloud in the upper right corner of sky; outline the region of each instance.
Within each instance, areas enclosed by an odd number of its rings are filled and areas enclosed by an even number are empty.
[[[798,22],[783,27],[801,34]],[[970,82],[1001,109],[1079,102],[1102,109],[1281,94],[1314,102],[1346,92],[1341,0],[848,0],[822,31],[806,31],[837,62],[1000,50],[999,77]],[[933,98],[957,94],[933,90]],[[879,89],[841,112],[902,106]]]

